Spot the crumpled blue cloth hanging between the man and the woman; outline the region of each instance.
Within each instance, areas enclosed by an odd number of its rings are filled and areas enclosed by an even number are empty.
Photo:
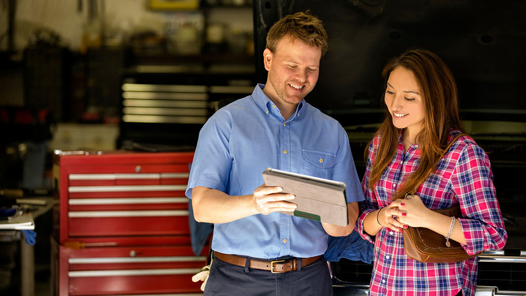
[[[372,262],[373,244],[362,239],[358,232],[353,231],[347,236],[329,236],[325,258],[327,261],[339,261],[342,258]]]

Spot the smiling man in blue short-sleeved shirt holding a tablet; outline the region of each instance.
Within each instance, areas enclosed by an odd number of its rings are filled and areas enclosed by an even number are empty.
[[[352,232],[363,192],[347,133],[304,100],[326,51],[319,19],[282,18],[267,36],[267,83],[199,133],[186,195],[195,219],[214,223],[205,295],[332,295],[322,254],[329,234]],[[349,225],[277,213],[294,211],[294,195],[261,185],[266,167],[345,182]]]

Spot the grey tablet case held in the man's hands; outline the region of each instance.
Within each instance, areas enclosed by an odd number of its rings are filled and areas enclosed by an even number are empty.
[[[296,195],[290,202],[298,205],[294,212],[280,212],[330,224],[347,226],[346,184],[267,167],[262,173],[266,186],[280,186],[283,193]]]

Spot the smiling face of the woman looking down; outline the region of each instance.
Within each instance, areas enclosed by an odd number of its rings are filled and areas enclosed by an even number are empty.
[[[398,129],[407,128],[412,137],[420,132],[425,117],[424,103],[418,83],[409,70],[396,67],[390,73],[385,100],[393,125]]]

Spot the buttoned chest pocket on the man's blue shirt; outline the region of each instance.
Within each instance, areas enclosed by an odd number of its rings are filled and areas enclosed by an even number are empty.
[[[336,155],[319,150],[304,149],[303,167],[300,174],[330,179],[332,167],[336,162]]]

